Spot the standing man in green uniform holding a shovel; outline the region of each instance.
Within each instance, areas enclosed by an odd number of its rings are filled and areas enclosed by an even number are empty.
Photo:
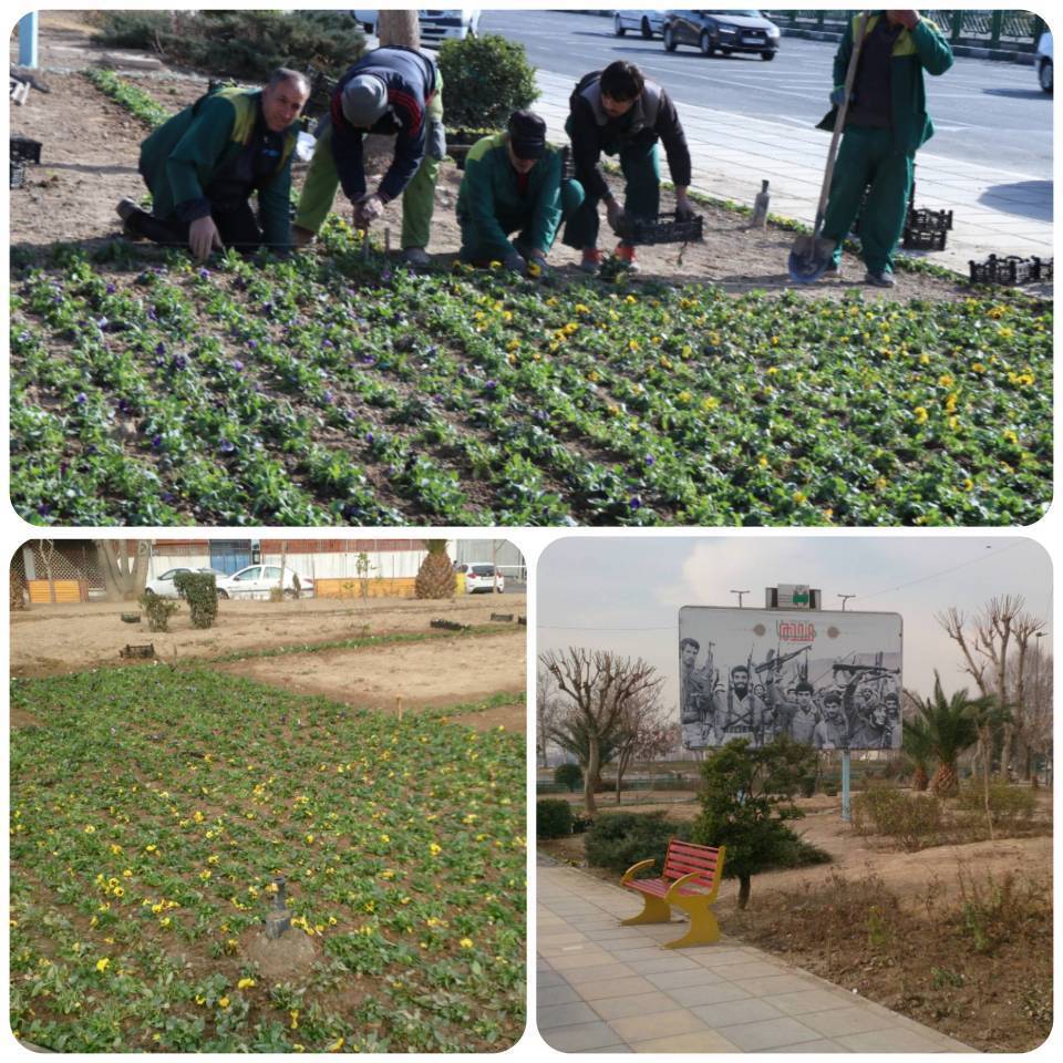
[[[846,28],[834,58],[833,110],[819,123],[834,130],[845,99],[845,75],[859,16]],[[927,114],[923,71],[943,74],[952,49],[941,31],[918,11],[879,11],[864,27],[853,97],[830,182],[823,235],[835,240],[834,265],[825,276],[839,277],[842,241],[860,209],[865,283],[894,285],[894,252],[905,229],[916,151],[933,135]]]

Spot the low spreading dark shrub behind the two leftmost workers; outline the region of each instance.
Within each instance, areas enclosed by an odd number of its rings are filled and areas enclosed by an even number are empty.
[[[111,11],[97,38],[113,48],[161,52],[214,78],[265,80],[277,66],[313,66],[338,76],[365,50],[365,38],[339,11]]]

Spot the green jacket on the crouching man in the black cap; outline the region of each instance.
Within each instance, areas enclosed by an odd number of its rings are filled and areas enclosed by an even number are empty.
[[[457,219],[463,228],[472,227],[475,245],[512,251],[509,234],[526,228],[530,248],[546,254],[561,221],[561,153],[547,146],[528,173],[528,188],[522,196],[507,144],[508,134],[496,133],[468,149]]]

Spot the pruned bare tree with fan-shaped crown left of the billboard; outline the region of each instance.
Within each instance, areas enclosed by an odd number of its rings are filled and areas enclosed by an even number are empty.
[[[588,815],[594,815],[598,811],[595,781],[601,770],[601,736],[616,726],[629,703],[657,690],[662,677],[641,658],[621,658],[607,650],[569,647],[544,653],[539,660],[558,690],[569,698],[578,723],[586,729],[584,806]]]

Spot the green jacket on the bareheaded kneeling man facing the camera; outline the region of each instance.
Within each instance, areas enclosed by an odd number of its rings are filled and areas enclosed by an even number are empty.
[[[152,189],[152,213],[166,218],[180,210],[187,219],[205,217],[206,189],[215,175],[250,142],[259,114],[261,90],[221,89],[200,96],[175,114],[141,145],[141,174]],[[291,157],[298,126],[285,132],[280,163],[258,188],[259,220],[267,246],[290,240],[288,200]]]

